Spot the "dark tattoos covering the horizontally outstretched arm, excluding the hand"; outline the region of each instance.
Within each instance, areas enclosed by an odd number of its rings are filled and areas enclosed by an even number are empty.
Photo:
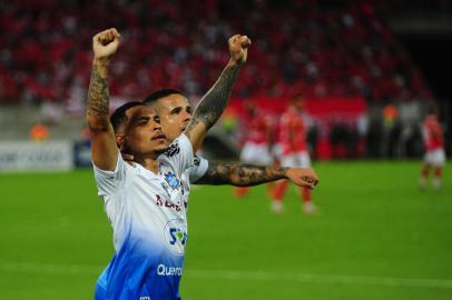
[[[278,179],[287,178],[286,168],[259,167],[247,163],[210,164],[207,172],[195,183],[197,184],[233,184],[252,187]]]

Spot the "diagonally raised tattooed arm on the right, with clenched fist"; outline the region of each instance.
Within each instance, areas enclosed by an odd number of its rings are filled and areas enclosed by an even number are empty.
[[[230,59],[218,80],[203,97],[185,130],[193,150],[199,149],[206,132],[219,119],[227,106],[234,83],[243,63],[246,62],[250,40],[236,34],[228,40]]]

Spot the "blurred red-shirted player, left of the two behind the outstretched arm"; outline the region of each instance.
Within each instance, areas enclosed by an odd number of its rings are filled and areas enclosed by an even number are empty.
[[[240,152],[240,161],[257,166],[272,164],[271,154],[271,119],[259,110],[256,103],[245,102],[245,113],[242,118],[243,147]],[[272,193],[272,184],[268,184],[269,193]],[[248,193],[249,189],[240,187],[235,189],[236,197],[243,197]]]

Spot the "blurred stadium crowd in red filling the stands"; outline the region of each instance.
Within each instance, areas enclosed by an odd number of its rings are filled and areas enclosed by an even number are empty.
[[[82,114],[91,37],[112,26],[122,47],[109,88],[120,100],[167,87],[198,98],[227,60],[227,38],[245,32],[254,44],[236,98],[287,99],[296,92],[382,106],[429,101],[432,91],[384,18],[390,6],[426,3],[452,10],[441,0],[2,1],[0,103],[58,103],[65,113]]]

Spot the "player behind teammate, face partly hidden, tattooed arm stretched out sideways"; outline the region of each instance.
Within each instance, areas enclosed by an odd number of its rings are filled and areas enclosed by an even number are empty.
[[[225,93],[217,93],[217,90],[224,89],[223,74],[210,91],[203,97],[223,97]],[[223,88],[222,88],[223,87]],[[160,117],[161,130],[165,133],[168,143],[173,142],[185,130],[191,119],[191,109],[187,98],[181,91],[174,89],[163,89],[149,94],[145,101],[156,110]],[[124,131],[121,119],[129,108],[139,104],[139,102],[128,102],[119,107],[111,116],[116,134],[120,136]],[[134,157],[124,153],[127,160],[132,161]],[[185,188],[189,192],[189,183],[195,184],[232,184],[236,187],[252,187],[265,182],[273,182],[279,179],[291,179],[297,186],[313,188],[318,178],[311,168],[281,168],[274,166],[254,166],[249,163],[228,162],[217,163],[208,161],[203,157],[195,154],[193,167],[188,174],[184,174]]]

